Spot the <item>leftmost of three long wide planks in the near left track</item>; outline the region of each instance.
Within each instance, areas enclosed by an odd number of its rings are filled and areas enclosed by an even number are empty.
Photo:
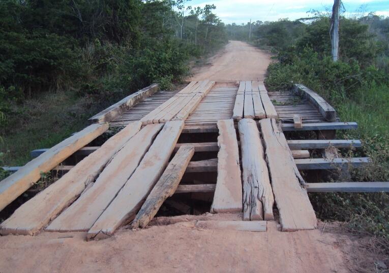
[[[1,224],[0,233],[33,235],[39,232],[68,207],[89,183],[94,182],[111,157],[139,131],[141,125],[139,121],[130,123],[58,181],[22,204]]]

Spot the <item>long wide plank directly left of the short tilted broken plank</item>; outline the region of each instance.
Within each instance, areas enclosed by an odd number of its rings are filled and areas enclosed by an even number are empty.
[[[183,121],[166,122],[134,174],[89,229],[88,239],[110,236],[119,226],[134,219],[142,201],[161,177],[183,128]]]

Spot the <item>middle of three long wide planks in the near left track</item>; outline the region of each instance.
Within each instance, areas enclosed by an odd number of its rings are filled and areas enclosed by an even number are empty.
[[[131,177],[163,124],[142,128],[105,166],[91,189],[46,227],[46,231],[87,231]]]

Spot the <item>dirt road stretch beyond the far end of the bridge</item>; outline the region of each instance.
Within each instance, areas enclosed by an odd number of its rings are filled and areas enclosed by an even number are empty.
[[[230,41],[204,66],[193,70],[191,81],[263,81],[271,55],[239,41]]]

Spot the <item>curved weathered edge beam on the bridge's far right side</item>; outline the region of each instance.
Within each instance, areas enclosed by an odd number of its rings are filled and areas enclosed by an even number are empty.
[[[316,92],[312,91],[311,89],[302,84],[294,84],[293,88],[295,92],[302,94],[304,98],[308,98],[327,121],[336,120],[335,109]]]

